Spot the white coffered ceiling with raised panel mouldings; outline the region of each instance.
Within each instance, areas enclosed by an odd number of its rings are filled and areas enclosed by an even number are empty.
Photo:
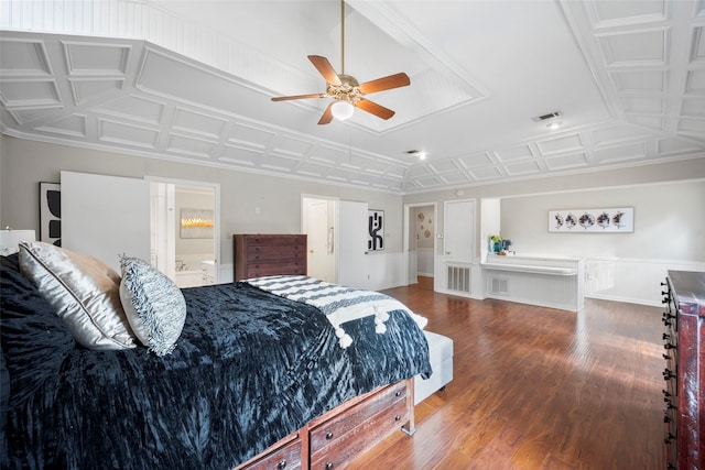
[[[337,0],[0,0],[1,130],[397,194],[705,159],[704,31],[705,0],[349,0],[344,43]],[[411,86],[318,125],[271,101],[325,91],[307,55]]]

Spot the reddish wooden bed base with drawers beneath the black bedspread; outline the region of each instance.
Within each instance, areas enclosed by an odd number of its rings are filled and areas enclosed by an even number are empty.
[[[337,469],[397,429],[415,431],[414,380],[382,386],[333,408],[236,470]]]

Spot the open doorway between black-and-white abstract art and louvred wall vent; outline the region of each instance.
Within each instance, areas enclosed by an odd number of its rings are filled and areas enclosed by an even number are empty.
[[[436,250],[436,205],[431,203],[404,205],[404,252],[406,253],[406,284],[416,284],[419,276],[434,277]]]

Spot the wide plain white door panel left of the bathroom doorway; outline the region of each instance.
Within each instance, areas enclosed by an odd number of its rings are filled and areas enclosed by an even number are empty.
[[[62,172],[62,245],[120,272],[120,254],[150,260],[150,184]]]

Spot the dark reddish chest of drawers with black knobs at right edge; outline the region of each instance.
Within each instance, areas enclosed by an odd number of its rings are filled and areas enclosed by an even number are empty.
[[[705,273],[669,271],[664,285],[665,468],[705,469]]]

